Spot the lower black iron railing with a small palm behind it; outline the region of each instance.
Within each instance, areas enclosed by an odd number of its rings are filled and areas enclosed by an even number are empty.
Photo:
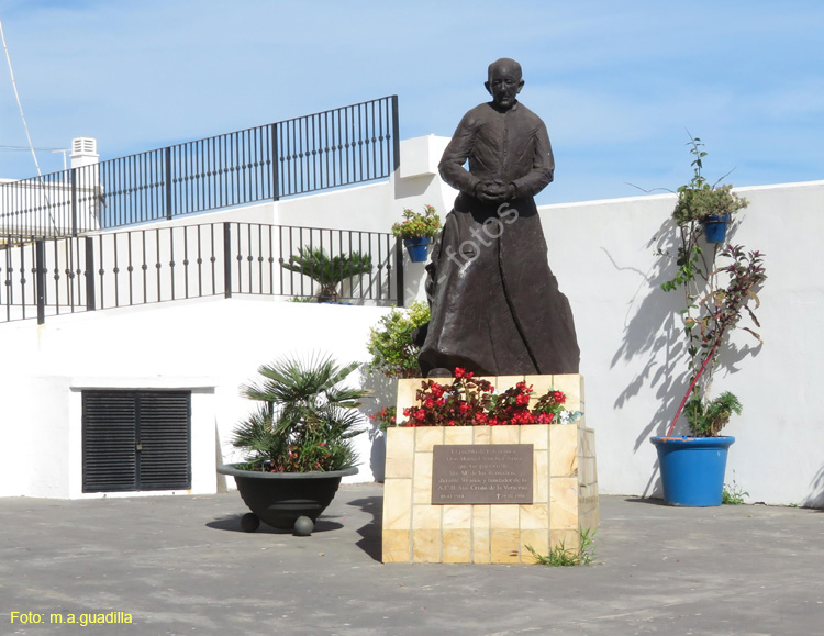
[[[402,305],[401,264],[391,234],[260,223],[31,238],[0,250],[0,322],[233,294]]]

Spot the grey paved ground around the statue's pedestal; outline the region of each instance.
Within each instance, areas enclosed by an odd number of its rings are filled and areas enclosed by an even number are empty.
[[[819,511],[603,496],[595,565],[385,566],[381,499],[342,487],[311,537],[240,532],[236,492],[2,499],[0,634],[824,633]]]

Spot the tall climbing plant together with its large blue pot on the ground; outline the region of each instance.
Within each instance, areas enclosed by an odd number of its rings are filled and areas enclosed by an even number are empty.
[[[693,183],[703,183],[700,169],[706,153],[701,150],[698,138],[691,140],[695,155]],[[712,255],[705,255],[699,244],[703,217],[695,210],[700,205],[726,197],[735,202],[728,214],[746,205],[746,201],[730,189],[730,186],[679,189],[679,202],[672,213],[680,238],[677,254],[659,252],[660,256],[672,258],[677,264],[675,277],[661,287],[664,291],[680,289],[684,293],[686,309],[680,313],[684,321],[690,365],[690,384],[667,434],[650,438],[658,453],[664,501],[670,505],[721,504],[727,449],[735,438],[720,433],[733,413],[742,412],[742,405],[728,391],[709,398],[713,371],[722,344],[736,327],[744,328],[761,342],[760,336],[753,328],[743,326],[741,321],[747,315],[756,327],[759,326],[755,315],[759,303],[756,291],[767,278],[764,255],[745,252],[739,245],[727,245],[721,250],[716,247]],[[703,201],[700,205],[699,199]],[[723,263],[715,263],[716,257]],[[689,423],[690,435],[673,435],[682,413]]]

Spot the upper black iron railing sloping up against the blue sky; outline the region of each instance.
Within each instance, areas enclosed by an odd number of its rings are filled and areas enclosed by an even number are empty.
[[[0,185],[0,246],[389,177],[398,98]]]

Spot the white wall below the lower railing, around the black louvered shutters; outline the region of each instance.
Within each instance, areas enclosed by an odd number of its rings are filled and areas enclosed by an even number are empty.
[[[191,389],[189,492],[215,492],[215,436],[226,460],[240,459],[227,440],[254,406],[240,386],[261,364],[288,354],[330,352],[341,364],[366,361],[369,327],[387,311],[234,298],[75,314],[40,327],[2,325],[3,357],[18,362],[0,372],[0,496],[102,496],[81,492],[83,389]],[[378,389],[363,408],[372,412],[386,390],[359,373],[353,381]],[[360,473],[350,481],[375,479],[370,428],[365,420]]]

